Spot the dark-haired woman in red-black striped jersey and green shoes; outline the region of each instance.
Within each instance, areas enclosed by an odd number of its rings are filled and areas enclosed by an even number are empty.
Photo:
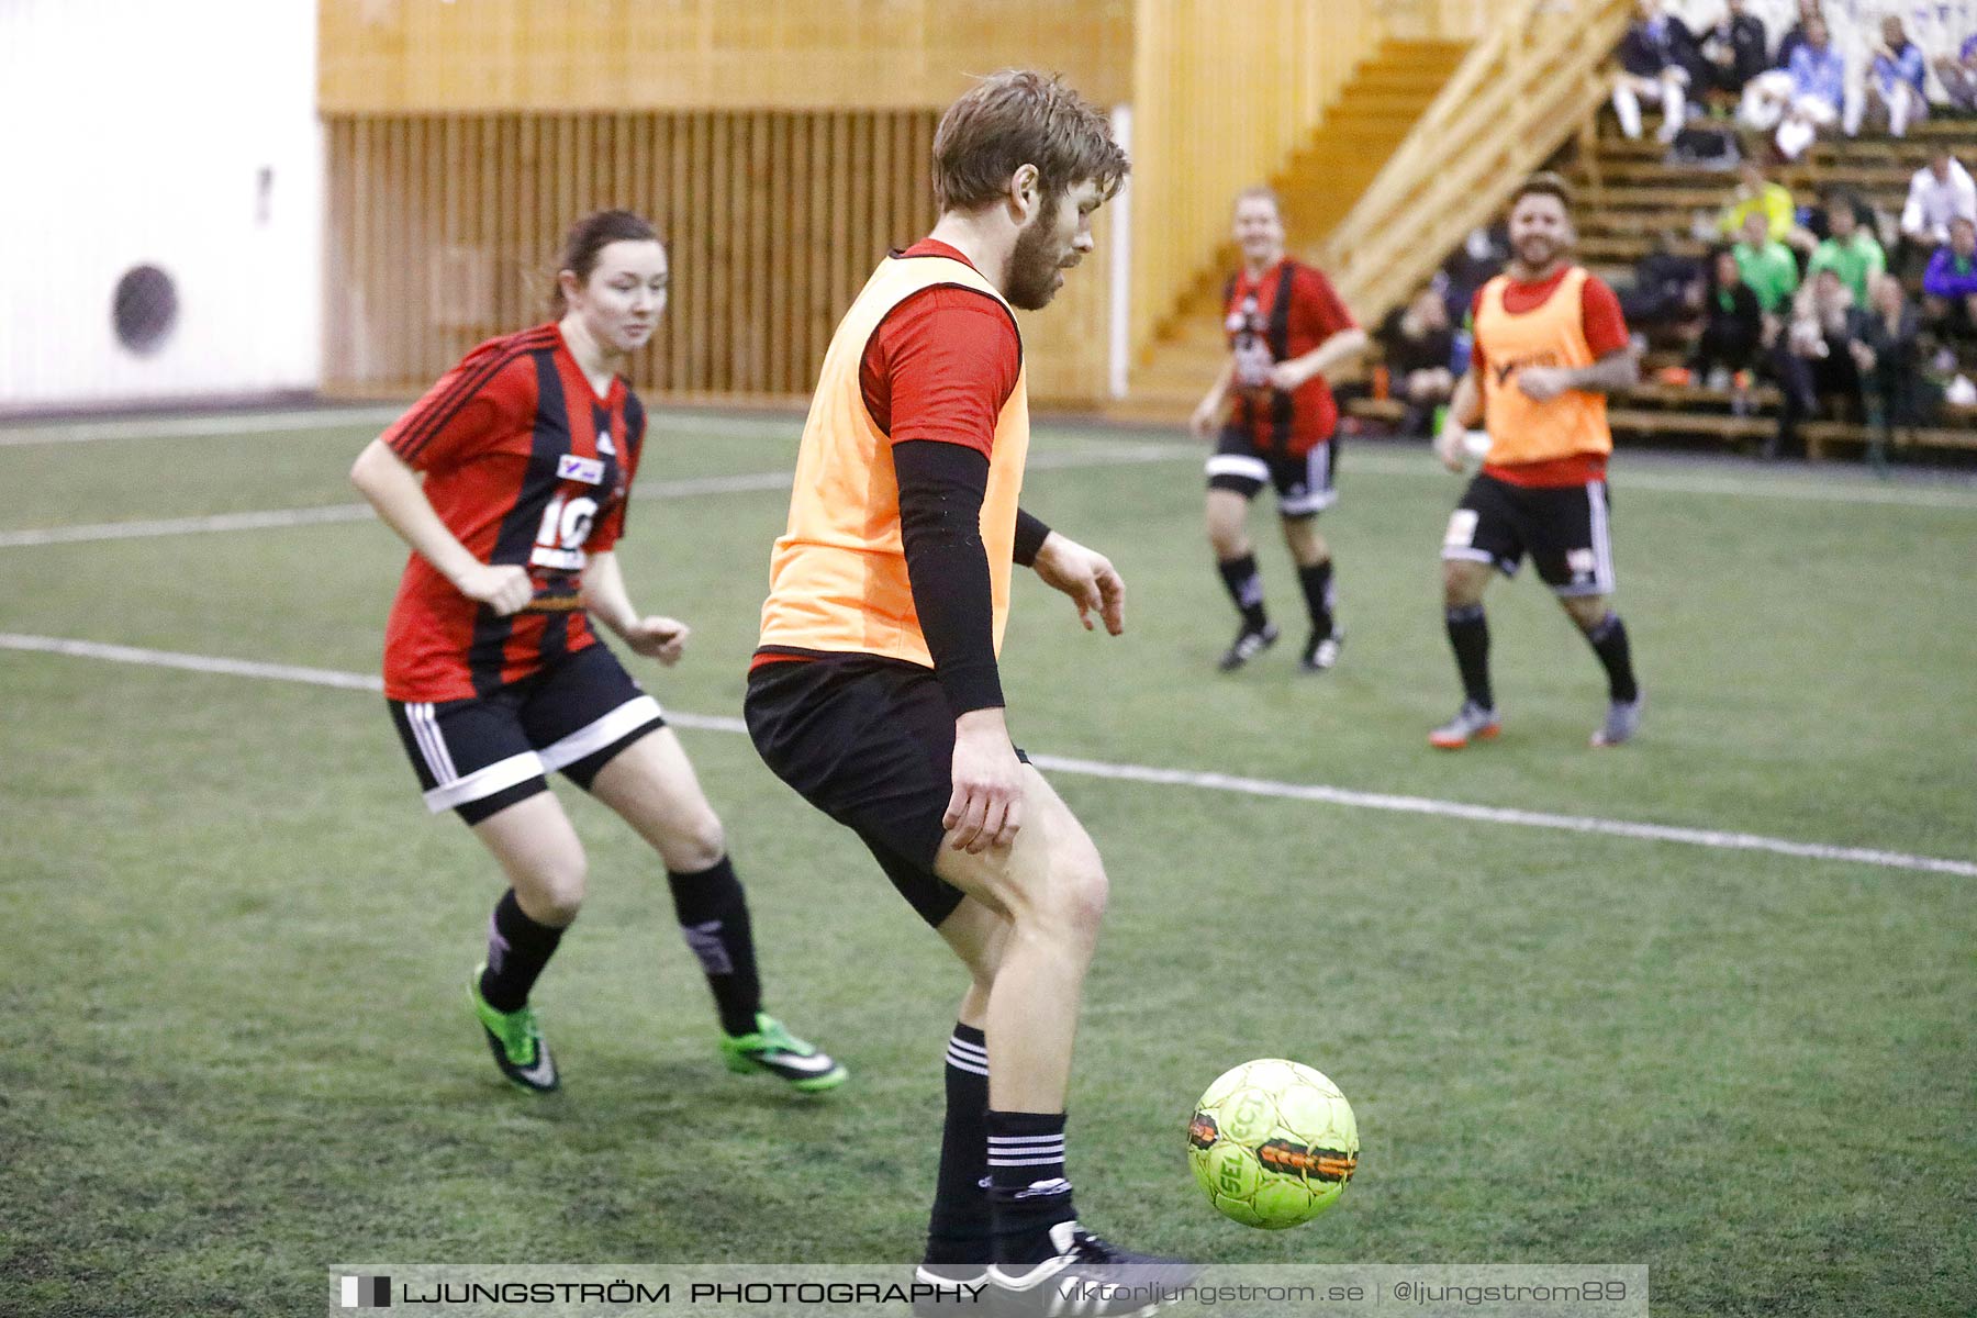
[[[427,808],[467,820],[510,883],[469,980],[502,1075],[558,1087],[528,1006],[583,903],[556,769],[658,850],[728,1065],[830,1089],[844,1067],[761,1010],[747,901],[686,751],[589,626],[668,666],[688,636],[633,607],[615,553],[646,429],[621,370],[652,338],[666,285],[650,223],[581,219],[558,320],[474,348],[358,456],[352,482],[413,549],[386,628],[386,700]]]

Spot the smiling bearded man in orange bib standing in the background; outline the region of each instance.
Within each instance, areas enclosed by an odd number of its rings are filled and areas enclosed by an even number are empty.
[[[1441,541],[1441,595],[1465,694],[1455,717],[1427,735],[1445,751],[1503,729],[1483,589],[1491,569],[1510,575],[1526,553],[1605,668],[1607,713],[1591,743],[1619,745],[1641,725],[1627,626],[1611,609],[1605,486],[1605,395],[1633,385],[1639,364],[1619,298],[1568,261],[1572,243],[1564,180],[1536,174],[1510,198],[1510,269],[1477,290],[1471,370],[1435,441],[1443,464],[1461,472],[1469,429],[1483,421],[1489,431],[1483,470]]]

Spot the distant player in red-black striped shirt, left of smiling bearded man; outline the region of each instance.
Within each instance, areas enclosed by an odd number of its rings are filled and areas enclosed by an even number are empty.
[[[1325,373],[1362,354],[1366,332],[1321,271],[1285,255],[1275,192],[1242,190],[1234,229],[1244,265],[1222,292],[1230,360],[1192,417],[1194,433],[1208,439],[1234,401],[1208,458],[1208,543],[1242,613],[1236,640],[1218,666],[1242,668],[1277,640],[1244,528],[1249,502],[1269,484],[1311,613],[1299,666],[1323,672],[1338,662],[1344,640],[1332,617],[1332,551],[1317,528],[1319,514],[1336,498],[1338,478],[1338,403]]]

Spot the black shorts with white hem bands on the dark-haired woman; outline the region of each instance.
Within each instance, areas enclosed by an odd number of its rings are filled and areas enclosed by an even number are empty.
[[[469,824],[546,792],[552,769],[589,790],[619,751],[666,725],[603,642],[490,696],[386,703],[425,808],[455,810]]]

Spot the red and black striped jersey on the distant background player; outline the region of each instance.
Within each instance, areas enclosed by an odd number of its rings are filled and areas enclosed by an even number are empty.
[[[1222,290],[1222,330],[1236,354],[1232,425],[1263,453],[1303,456],[1338,427],[1338,403],[1325,375],[1295,393],[1269,387],[1269,368],[1301,358],[1332,334],[1356,328],[1332,281],[1285,257],[1257,277],[1236,271]]]

